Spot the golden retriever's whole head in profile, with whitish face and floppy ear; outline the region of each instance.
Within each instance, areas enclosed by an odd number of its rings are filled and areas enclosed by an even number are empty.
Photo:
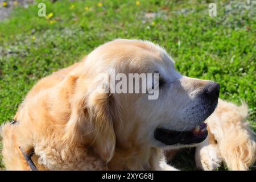
[[[137,85],[130,83],[134,74]],[[67,136],[82,144],[93,141],[107,162],[123,143],[175,148],[202,142],[207,137],[203,122],[214,111],[220,89],[216,82],[181,75],[163,48],[142,40],[105,43],[70,76],[76,84]]]

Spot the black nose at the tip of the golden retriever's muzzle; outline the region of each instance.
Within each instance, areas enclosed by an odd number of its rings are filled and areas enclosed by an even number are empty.
[[[210,101],[217,101],[220,94],[220,84],[217,82],[210,82],[203,90],[204,97]]]

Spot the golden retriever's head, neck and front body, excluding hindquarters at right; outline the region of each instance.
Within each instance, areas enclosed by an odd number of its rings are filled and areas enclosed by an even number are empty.
[[[146,93],[101,92],[113,69],[125,76],[156,73],[159,79]],[[99,79],[102,74],[107,76]],[[154,89],[158,98],[149,99]],[[3,162],[6,169],[30,170],[23,153],[32,152],[36,167],[46,170],[175,170],[163,149],[207,138],[204,121],[219,90],[216,82],[180,75],[160,46],[117,39],[31,89],[16,122],[2,126]]]

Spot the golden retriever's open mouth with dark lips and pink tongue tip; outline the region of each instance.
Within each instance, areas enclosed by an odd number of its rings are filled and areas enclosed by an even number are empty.
[[[208,135],[207,123],[201,123],[189,131],[174,131],[163,128],[155,130],[155,139],[167,145],[196,144],[203,142]]]

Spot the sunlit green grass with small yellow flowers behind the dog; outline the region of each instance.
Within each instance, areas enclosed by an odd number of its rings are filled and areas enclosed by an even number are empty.
[[[209,17],[208,1],[43,2],[50,19],[31,5],[0,22],[0,123],[13,117],[39,78],[102,43],[127,38],[160,44],[183,75],[219,82],[225,100],[245,100],[255,127],[255,4],[216,1],[217,17]]]

